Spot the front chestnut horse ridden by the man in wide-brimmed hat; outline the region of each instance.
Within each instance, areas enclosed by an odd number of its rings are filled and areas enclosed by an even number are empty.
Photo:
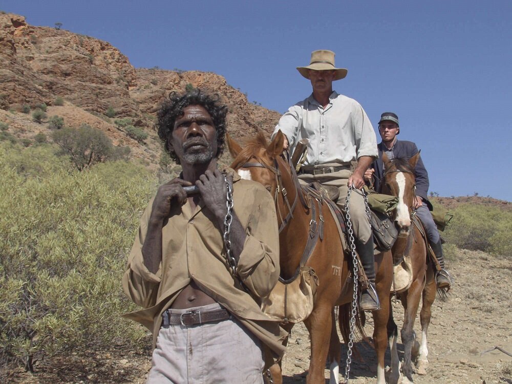
[[[304,319],[311,340],[311,359],[306,382],[308,384],[325,383],[324,368],[329,355],[330,383],[334,384],[338,382],[341,355],[334,319],[336,306],[339,307],[338,325],[345,342],[349,336],[348,320],[353,296],[353,283],[349,279],[349,257],[345,254],[337,224],[329,213],[329,209],[326,208],[326,204],[311,198],[299,185],[295,169],[282,155],[284,137],[279,132],[268,143],[264,134],[259,133],[248,141],[244,148],[234,142],[229,135],[226,137],[226,142],[234,158],[231,167],[236,169],[243,178],[263,184],[274,198],[280,227],[282,279],[290,279],[296,273],[311,231],[311,223],[317,222],[323,225],[323,239],[316,242],[307,262],[307,265],[316,272],[319,286],[315,294],[313,310]],[[321,209],[324,215],[322,217],[321,214],[318,217],[314,212]],[[375,323],[373,342],[378,360],[377,384],[385,384],[384,355],[388,342],[389,295],[393,275],[391,252],[377,254],[375,263],[376,290],[381,309],[373,312]],[[284,327],[291,331],[293,324],[284,324]],[[280,365],[274,365],[271,372],[273,382],[282,383]]]

